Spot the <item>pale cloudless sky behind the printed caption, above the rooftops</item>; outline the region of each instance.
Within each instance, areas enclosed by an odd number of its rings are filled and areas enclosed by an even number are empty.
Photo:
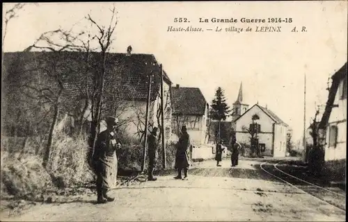
[[[111,52],[151,53],[174,85],[199,87],[211,103],[222,87],[228,105],[243,83],[243,101],[274,111],[303,135],[303,88],[306,74],[306,127],[315,105],[326,103],[327,80],[347,62],[346,1],[234,1],[114,3],[118,24]],[[3,3],[3,11],[13,6]],[[22,51],[41,33],[57,28],[90,28],[90,15],[107,26],[113,3],[27,3],[8,24],[4,51]],[[175,17],[189,23],[175,23]],[[234,18],[237,23],[200,23],[199,18]],[[245,24],[242,18],[292,18],[285,24]],[[211,20],[210,20],[211,21]],[[257,33],[256,26],[281,26],[280,33]],[[168,26],[203,28],[198,33],[168,32]],[[253,28],[253,32],[206,31],[216,26]],[[306,26],[306,32],[292,28]],[[324,106],[323,106],[324,108]]]

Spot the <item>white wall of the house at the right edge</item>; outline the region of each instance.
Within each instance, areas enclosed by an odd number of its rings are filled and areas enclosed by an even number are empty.
[[[338,108],[332,108],[329,117],[329,126],[326,128],[326,147],[325,147],[325,160],[343,160],[347,155],[347,98],[340,99],[342,93],[342,84],[338,88],[338,92],[335,95],[335,102],[333,104],[338,105]],[[329,133],[330,126],[338,127],[337,145],[330,146]]]

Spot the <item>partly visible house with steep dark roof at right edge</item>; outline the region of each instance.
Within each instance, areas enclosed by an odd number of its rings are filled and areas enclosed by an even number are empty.
[[[329,175],[345,179],[347,162],[347,62],[331,76],[326,108],[319,124],[325,137],[324,161]]]

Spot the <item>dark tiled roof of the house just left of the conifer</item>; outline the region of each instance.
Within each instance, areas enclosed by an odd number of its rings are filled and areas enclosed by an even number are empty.
[[[172,87],[173,114],[203,115],[207,107],[202,92],[194,87]]]

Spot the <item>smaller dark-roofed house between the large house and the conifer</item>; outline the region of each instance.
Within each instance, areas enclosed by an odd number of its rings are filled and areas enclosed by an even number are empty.
[[[209,105],[202,92],[196,87],[172,87],[173,136],[180,135],[182,126],[187,126],[192,144],[204,144],[207,134]]]

